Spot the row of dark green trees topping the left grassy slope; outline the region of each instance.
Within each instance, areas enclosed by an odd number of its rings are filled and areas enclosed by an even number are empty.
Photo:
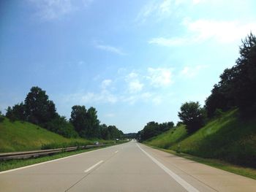
[[[11,121],[21,120],[61,134],[64,137],[83,137],[86,139],[116,139],[124,133],[116,126],[100,124],[97,110],[90,107],[75,105],[69,120],[56,112],[56,106],[49,100],[42,88],[32,87],[24,102],[7,107],[5,115]]]

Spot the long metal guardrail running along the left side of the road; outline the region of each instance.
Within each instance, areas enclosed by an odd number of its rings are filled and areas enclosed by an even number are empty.
[[[54,153],[61,153],[66,151],[72,150],[80,150],[80,149],[89,149],[94,147],[103,147],[107,146],[106,144],[102,145],[86,145],[86,146],[79,146],[79,147],[65,147],[65,148],[58,148],[53,150],[31,150],[31,151],[23,151],[23,152],[15,152],[15,153],[0,153],[0,161],[1,160],[10,160],[10,159],[22,159],[22,158],[32,158],[32,157],[39,157],[43,155],[52,155]]]

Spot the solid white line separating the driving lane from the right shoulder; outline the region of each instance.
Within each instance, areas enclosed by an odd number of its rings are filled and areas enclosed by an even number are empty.
[[[196,188],[194,188],[192,185],[190,185],[189,183],[187,183],[187,181],[183,180],[181,177],[179,177],[177,174],[175,174],[174,172],[170,171],[170,169],[168,169],[166,166],[164,166],[163,164],[161,164],[159,161],[157,161],[157,159],[155,159],[154,157],[152,157],[151,155],[149,155],[148,153],[146,153],[145,150],[143,150],[140,145],[138,145],[138,143],[136,143],[136,145],[140,148],[140,150],[142,150],[143,153],[145,153],[149,158],[151,158],[152,161],[154,161],[155,164],[157,164],[159,167],[161,167],[167,174],[170,175],[170,177],[173,177],[174,180],[176,180],[176,182],[178,182],[182,187],[184,187],[187,191],[189,192],[199,192]]]

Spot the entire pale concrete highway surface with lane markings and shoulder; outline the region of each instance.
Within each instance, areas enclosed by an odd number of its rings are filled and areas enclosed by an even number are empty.
[[[256,180],[132,141],[0,172],[0,191],[256,191]]]

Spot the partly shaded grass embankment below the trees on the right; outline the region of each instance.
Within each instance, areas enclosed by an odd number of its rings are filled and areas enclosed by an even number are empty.
[[[200,157],[194,156],[195,161],[256,178],[256,119],[242,120],[237,110],[209,121],[192,135],[187,134],[184,126],[179,126],[145,143],[195,155]],[[247,172],[241,166],[252,169]]]

